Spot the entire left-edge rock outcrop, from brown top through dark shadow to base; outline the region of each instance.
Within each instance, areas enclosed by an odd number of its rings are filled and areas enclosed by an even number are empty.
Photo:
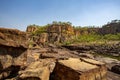
[[[8,77],[14,72],[16,70],[14,67],[22,68],[25,66],[27,59],[26,42],[25,32],[0,28],[0,79]]]

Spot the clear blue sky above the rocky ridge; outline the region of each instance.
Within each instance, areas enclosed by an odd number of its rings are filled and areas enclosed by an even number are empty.
[[[52,21],[101,26],[114,19],[120,19],[120,0],[0,0],[0,27],[26,30]]]

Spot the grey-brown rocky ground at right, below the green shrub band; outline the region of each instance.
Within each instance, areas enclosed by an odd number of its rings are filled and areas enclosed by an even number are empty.
[[[102,45],[102,46],[95,45],[95,44],[94,45],[78,45],[77,44],[77,45],[69,45],[69,46],[63,46],[63,47],[69,50],[78,52],[75,54],[81,57],[91,58],[91,59],[105,63],[108,69],[107,79],[108,80],[119,80],[120,79],[120,75],[119,75],[120,61],[117,59],[103,56],[103,54],[105,55],[107,54],[107,55],[115,56],[119,59],[120,58],[119,43],[117,43],[115,47],[113,46],[115,46],[115,44],[114,45],[107,44],[107,45]],[[111,50],[111,47],[112,47],[112,50]],[[97,53],[97,55],[95,53]]]

